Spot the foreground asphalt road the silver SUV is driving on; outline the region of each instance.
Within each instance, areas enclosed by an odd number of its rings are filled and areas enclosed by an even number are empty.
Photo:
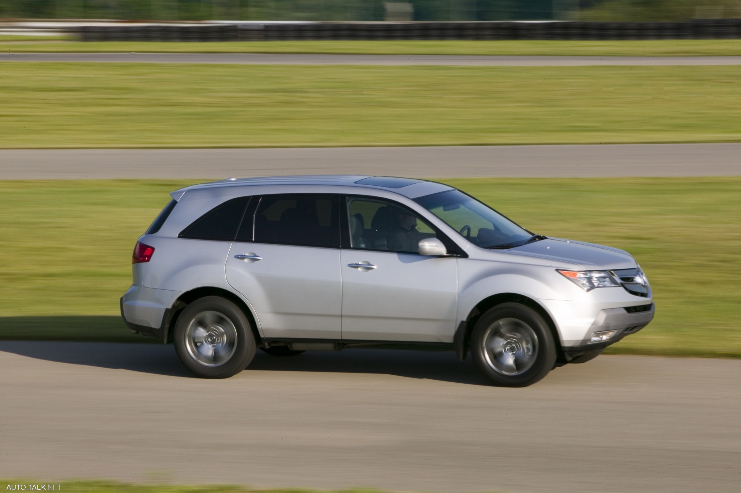
[[[737,492],[741,361],[601,356],[528,388],[451,353],[0,342],[0,477],[428,492]]]

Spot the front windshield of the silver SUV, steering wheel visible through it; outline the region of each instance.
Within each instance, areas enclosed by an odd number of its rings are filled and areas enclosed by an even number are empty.
[[[445,221],[473,245],[482,248],[511,248],[536,238],[462,191],[433,193],[419,197],[415,202]]]

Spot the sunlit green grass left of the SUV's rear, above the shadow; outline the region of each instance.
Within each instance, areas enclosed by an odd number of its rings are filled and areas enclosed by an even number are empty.
[[[136,239],[191,183],[0,181],[0,317],[119,314]]]

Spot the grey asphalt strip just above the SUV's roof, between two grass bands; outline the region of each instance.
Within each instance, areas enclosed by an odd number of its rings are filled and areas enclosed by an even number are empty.
[[[210,179],[333,173],[438,178],[738,176],[741,144],[0,150],[0,179]]]

